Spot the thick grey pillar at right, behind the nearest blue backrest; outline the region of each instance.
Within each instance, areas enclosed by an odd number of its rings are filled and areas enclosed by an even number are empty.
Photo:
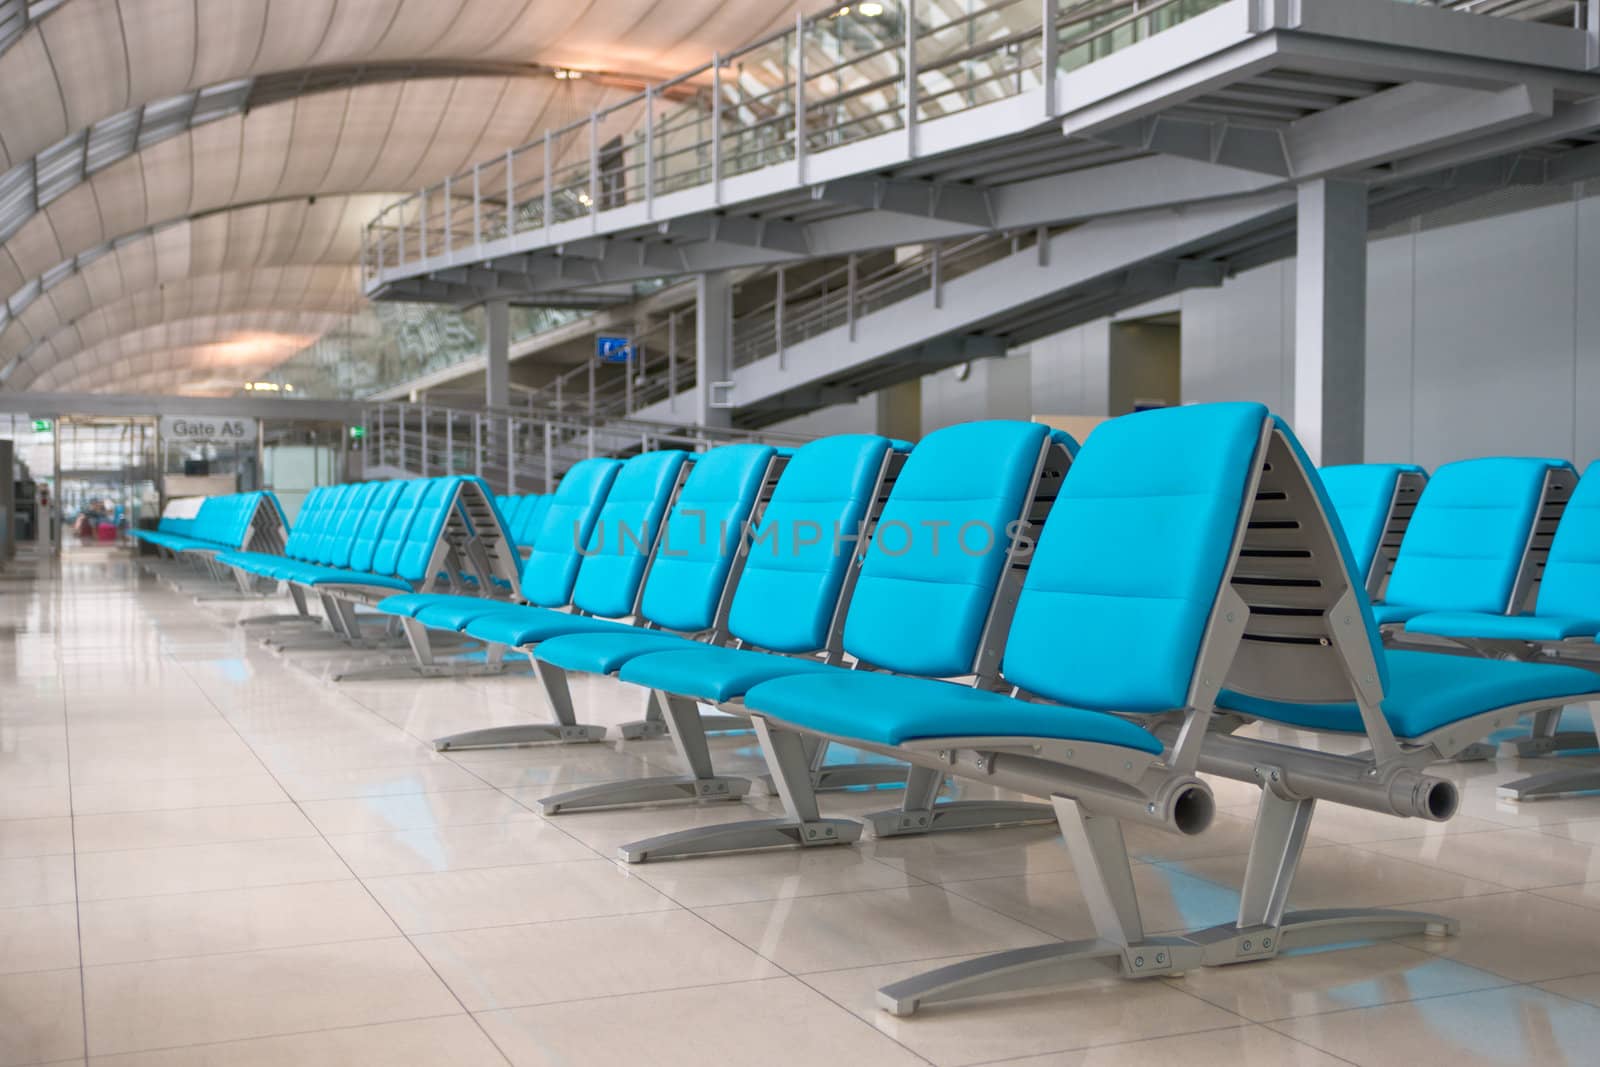
[[[1294,432],[1314,462],[1362,462],[1366,437],[1366,186],[1299,187]]]

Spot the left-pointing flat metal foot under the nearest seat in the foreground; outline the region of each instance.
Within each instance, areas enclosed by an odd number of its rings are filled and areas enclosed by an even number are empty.
[[[910,1016],[928,1005],[1034,992],[1094,977],[1173,977],[1198,961],[1200,949],[1181,937],[1149,937],[1128,945],[1099,939],[1032,945],[885,985],[878,990],[878,1008],[891,1016]]]

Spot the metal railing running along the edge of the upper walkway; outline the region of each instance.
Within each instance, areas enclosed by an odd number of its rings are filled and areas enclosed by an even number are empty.
[[[1046,85],[1226,0],[835,6],[386,208],[366,280]],[[800,120],[797,122],[797,115]]]

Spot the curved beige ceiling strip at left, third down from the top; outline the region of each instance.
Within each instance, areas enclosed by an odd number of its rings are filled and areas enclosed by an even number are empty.
[[[13,299],[10,317],[0,306],[5,320],[0,368],[96,307],[190,275],[352,264],[362,226],[384,200],[384,195],[357,195],[258,203],[146,230],[115,248],[91,250],[46,270],[48,286],[29,285],[29,299]]]

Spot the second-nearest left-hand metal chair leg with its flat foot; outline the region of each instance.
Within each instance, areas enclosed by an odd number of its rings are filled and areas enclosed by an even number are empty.
[[[755,819],[694,827],[630,841],[618,856],[630,864],[653,859],[702,856],[707,853],[744,853],[766,848],[814,848],[850,845],[861,838],[861,824],[851,819],[824,819],[816,808],[811,787],[811,752],[805,739],[787,729],[773,728],[765,718],[752,720],[760,737],[773,784],[784,803],[782,819]]]

